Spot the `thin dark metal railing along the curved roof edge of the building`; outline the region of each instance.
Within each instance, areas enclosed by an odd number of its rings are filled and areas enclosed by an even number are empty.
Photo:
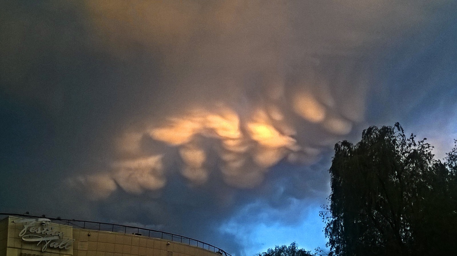
[[[99,231],[111,231],[123,234],[132,234],[138,236],[147,236],[150,238],[158,238],[162,240],[169,240],[173,242],[180,242],[182,244],[187,244],[190,246],[196,246],[202,249],[206,249],[208,251],[213,251],[220,255],[225,256],[232,256],[229,253],[223,251],[219,247],[210,245],[208,243],[202,242],[200,240],[196,240],[190,237],[186,237],[183,235],[176,235],[164,231],[159,230],[150,230],[146,228],[140,227],[133,227],[128,225],[119,225],[119,224],[112,224],[112,223],[105,223],[105,222],[96,222],[96,221],[87,221],[87,220],[77,220],[77,219],[61,219],[61,218],[49,218],[43,216],[33,216],[33,215],[26,215],[26,214],[8,214],[8,213],[0,213],[0,215],[10,215],[10,216],[21,216],[21,217],[28,217],[28,218],[46,218],[51,219],[58,224],[69,225],[74,228],[80,229],[87,229],[87,230],[99,230]]]

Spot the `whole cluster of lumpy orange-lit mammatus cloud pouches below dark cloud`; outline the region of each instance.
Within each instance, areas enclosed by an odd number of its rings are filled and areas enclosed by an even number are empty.
[[[353,121],[335,113],[327,114],[328,107],[311,95],[294,97],[291,106],[282,105],[283,109],[289,108],[285,111],[293,119],[319,125],[327,135],[345,135],[351,131]],[[202,185],[208,181],[209,172],[220,172],[230,186],[253,188],[282,159],[310,163],[319,154],[319,148],[325,146],[299,145],[295,139],[297,128],[293,126],[296,124],[283,111],[272,100],[263,109],[244,111],[244,116],[228,107],[211,111],[200,108],[165,118],[161,125],[139,131],[135,127],[137,131],[126,131],[117,139],[118,151],[128,157],[115,160],[110,172],[76,181],[87,184],[94,199],[106,198],[116,190],[115,184],[129,193],[163,188],[167,167],[162,160],[169,156],[163,153],[144,156],[142,143],[152,140],[177,149],[182,162],[181,175],[191,185]]]

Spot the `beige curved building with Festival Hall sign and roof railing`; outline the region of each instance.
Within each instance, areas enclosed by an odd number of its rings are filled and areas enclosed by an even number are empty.
[[[157,230],[12,215],[0,221],[0,256],[231,256],[218,247]]]

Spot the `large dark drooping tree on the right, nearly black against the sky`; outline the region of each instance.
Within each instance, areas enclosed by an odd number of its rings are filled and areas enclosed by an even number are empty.
[[[396,123],[335,145],[330,204],[322,217],[329,255],[454,255],[457,146],[446,162]]]

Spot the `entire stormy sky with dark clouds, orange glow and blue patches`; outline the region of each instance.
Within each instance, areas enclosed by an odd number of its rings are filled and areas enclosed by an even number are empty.
[[[0,212],[325,248],[336,142],[457,139],[457,2],[1,1]]]

